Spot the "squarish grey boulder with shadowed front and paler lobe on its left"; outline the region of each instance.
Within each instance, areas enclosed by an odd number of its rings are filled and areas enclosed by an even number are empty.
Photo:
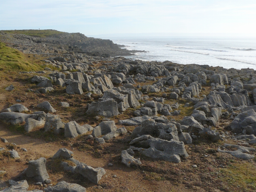
[[[114,121],[102,121],[98,126],[94,127],[91,135],[93,135],[93,137],[99,137],[116,130],[117,127]]]

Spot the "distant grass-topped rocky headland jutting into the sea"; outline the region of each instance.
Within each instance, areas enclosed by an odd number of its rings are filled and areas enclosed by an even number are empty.
[[[22,31],[24,31],[24,34],[22,34]],[[100,54],[121,56],[133,55],[134,52],[136,52],[129,51],[127,49],[121,49],[111,40],[86,37],[81,33],[64,33],[55,30],[42,30],[43,32],[41,33],[39,33],[40,31],[33,33],[34,30],[31,30],[31,33],[30,30],[22,31],[1,31],[0,41],[17,44],[17,46],[19,44],[22,44],[23,47],[24,45],[27,46],[23,48],[23,53],[65,53],[65,51],[75,51],[99,52]],[[49,31],[51,33],[49,33]]]

